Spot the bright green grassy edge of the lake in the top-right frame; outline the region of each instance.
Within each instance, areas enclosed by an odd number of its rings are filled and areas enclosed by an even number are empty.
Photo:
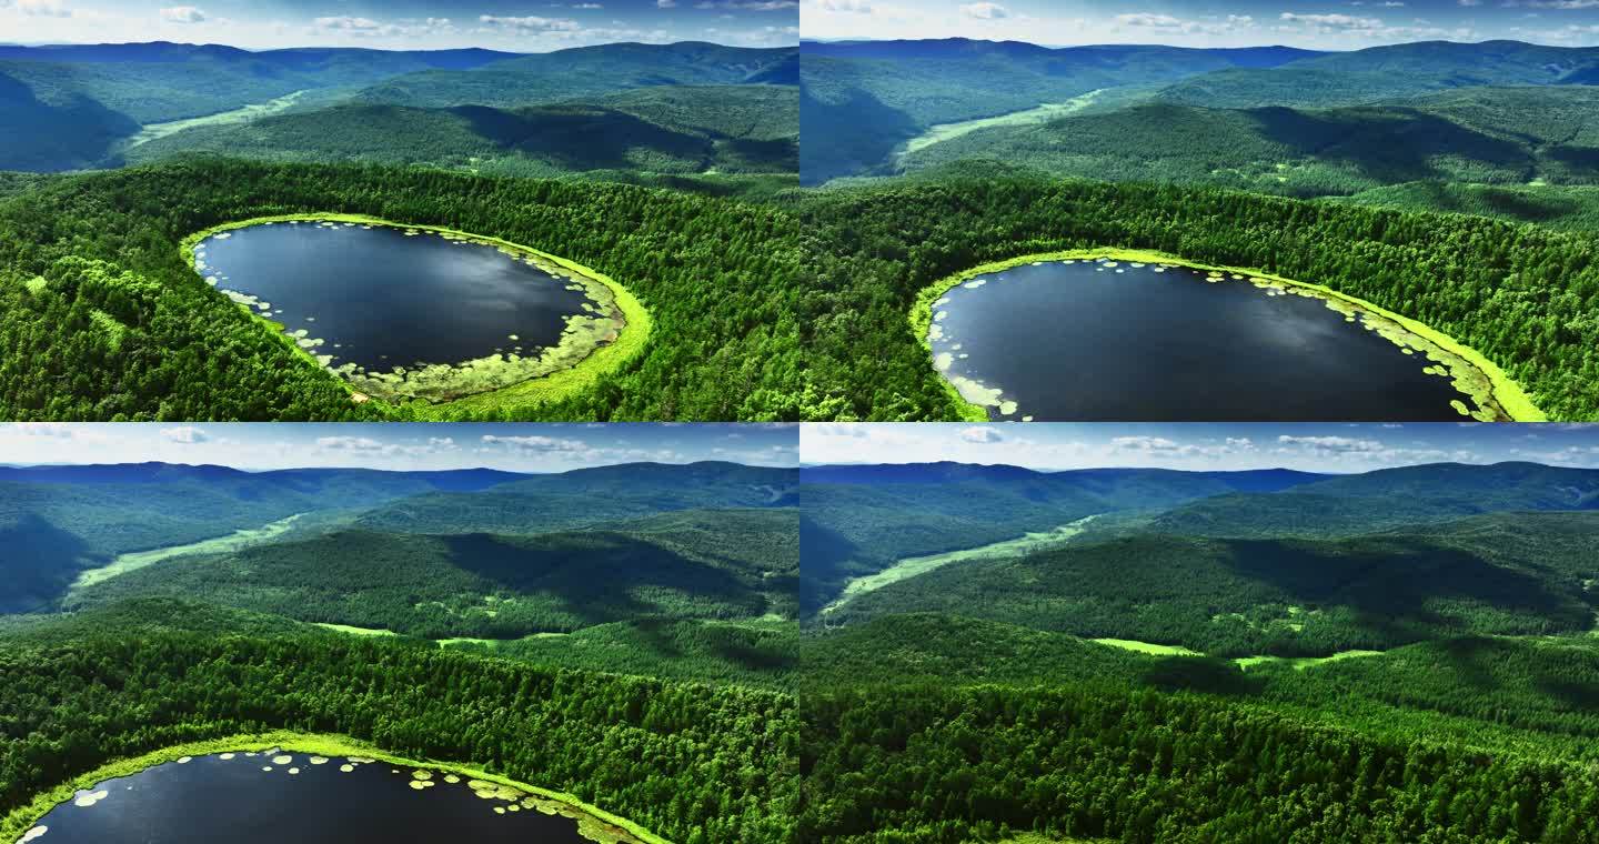
[[[1287,288],[1294,288],[1294,289],[1300,291],[1302,294],[1308,294],[1308,296],[1313,296],[1313,297],[1318,297],[1318,299],[1324,299],[1324,301],[1330,301],[1330,302],[1340,302],[1340,304],[1343,304],[1346,307],[1353,307],[1358,312],[1372,313],[1372,315],[1378,316],[1380,320],[1386,320],[1390,323],[1394,323],[1401,329],[1404,329],[1404,331],[1407,331],[1407,332],[1410,332],[1410,334],[1414,334],[1414,336],[1417,336],[1417,337],[1420,337],[1420,339],[1423,339],[1426,342],[1431,342],[1433,345],[1439,347],[1442,352],[1460,358],[1468,366],[1471,366],[1473,369],[1476,369],[1476,372],[1481,374],[1482,379],[1487,382],[1487,388],[1482,392],[1482,395],[1477,395],[1477,392],[1471,393],[1473,398],[1477,401],[1477,404],[1489,404],[1489,401],[1492,401],[1493,406],[1497,406],[1500,411],[1505,412],[1506,417],[1509,417],[1508,419],[1509,422],[1548,422],[1548,417],[1543,414],[1543,411],[1540,411],[1532,403],[1532,400],[1521,388],[1521,385],[1516,384],[1516,380],[1511,379],[1508,374],[1505,374],[1505,371],[1500,369],[1498,364],[1495,364],[1493,361],[1490,361],[1485,355],[1482,355],[1476,348],[1471,348],[1469,345],[1465,345],[1465,344],[1455,340],[1453,337],[1450,337],[1449,334],[1444,334],[1442,331],[1438,331],[1438,329],[1434,329],[1434,328],[1431,328],[1431,326],[1428,326],[1425,323],[1420,323],[1420,321],[1412,320],[1409,316],[1402,316],[1399,313],[1394,313],[1394,312],[1391,312],[1388,309],[1383,309],[1380,305],[1375,305],[1375,304],[1367,302],[1364,299],[1359,299],[1356,296],[1350,296],[1346,293],[1338,293],[1338,291],[1335,291],[1332,288],[1327,288],[1324,285],[1311,285],[1308,281],[1294,281],[1292,278],[1282,278],[1279,275],[1273,275],[1273,273],[1268,273],[1268,272],[1258,272],[1258,270],[1252,270],[1252,269],[1220,267],[1220,265],[1212,265],[1212,264],[1201,264],[1198,261],[1188,261],[1188,259],[1183,259],[1183,257],[1178,257],[1178,256],[1172,256],[1172,254],[1159,253],[1159,251],[1153,251],[1153,249],[1124,249],[1124,248],[1113,248],[1111,246],[1111,248],[1065,249],[1065,251],[1054,251],[1054,253],[1036,253],[1036,254],[1017,256],[1017,257],[1009,257],[1009,259],[1004,259],[1004,261],[993,261],[993,262],[988,262],[988,264],[980,264],[977,267],[971,267],[971,269],[961,270],[958,273],[947,275],[947,277],[940,278],[939,281],[934,281],[932,285],[929,285],[929,286],[926,286],[926,288],[923,288],[921,291],[916,293],[916,302],[911,305],[911,310],[910,310],[910,315],[908,315],[910,328],[916,334],[916,342],[919,342],[921,347],[923,347],[923,350],[927,353],[927,366],[937,372],[937,368],[934,366],[934,360],[932,360],[932,340],[929,339],[927,332],[932,328],[932,304],[937,302],[945,293],[950,293],[956,286],[964,285],[966,281],[969,281],[969,280],[972,280],[972,278],[975,278],[979,275],[988,275],[988,273],[995,273],[995,272],[1003,272],[1003,270],[1009,270],[1009,269],[1014,269],[1014,267],[1022,267],[1022,265],[1028,265],[1028,264],[1035,264],[1035,262],[1043,262],[1043,261],[1095,261],[1095,259],[1100,259],[1100,257],[1110,259],[1110,261],[1124,261],[1124,262],[1172,264],[1172,265],[1188,267],[1188,269],[1204,270],[1204,272],[1238,273],[1238,275],[1244,275],[1244,277],[1249,277],[1249,278],[1265,278],[1268,281],[1274,281],[1274,283],[1284,285]],[[1455,376],[1453,371],[1450,371],[1450,374]],[[945,395],[950,396],[950,400],[951,400],[956,412],[959,414],[959,419],[958,419],[959,422],[988,422],[990,420],[988,419],[988,409],[985,406],[982,406],[982,404],[974,404],[974,403],[967,401],[966,396],[963,396],[961,392],[955,387],[955,384],[950,382],[950,379],[943,376],[943,372],[939,372],[939,380],[943,384]]]

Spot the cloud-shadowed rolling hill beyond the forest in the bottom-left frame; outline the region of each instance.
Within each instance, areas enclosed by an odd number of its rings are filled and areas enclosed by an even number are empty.
[[[680,520],[688,516],[680,516]],[[641,619],[793,612],[792,512],[699,512],[692,531],[537,535],[339,529],[193,555],[75,590],[69,609],[166,596],[411,636],[510,639]]]

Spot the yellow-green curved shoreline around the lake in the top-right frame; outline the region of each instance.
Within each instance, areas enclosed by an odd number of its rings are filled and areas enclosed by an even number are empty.
[[[1449,371],[1449,377],[1455,382],[1457,390],[1465,395],[1469,395],[1477,403],[1479,408],[1487,411],[1487,416],[1492,416],[1492,419],[1477,419],[1477,420],[1497,420],[1497,422],[1548,420],[1548,417],[1532,403],[1532,400],[1525,395],[1525,392],[1522,392],[1521,385],[1516,384],[1508,374],[1505,374],[1505,371],[1500,369],[1493,361],[1487,360],[1487,356],[1484,356],[1481,352],[1420,321],[1390,312],[1364,299],[1338,293],[1322,285],[1295,281],[1290,278],[1282,278],[1274,273],[1266,273],[1242,267],[1220,267],[1212,264],[1202,264],[1151,249],[1091,248],[1091,249],[1038,253],[1038,254],[1017,256],[1004,261],[993,261],[940,278],[939,281],[918,291],[916,301],[911,305],[908,315],[910,328],[916,334],[916,340],[921,344],[923,350],[927,355],[927,366],[939,374],[939,380],[943,384],[945,393],[950,396],[951,404],[955,406],[961,422],[990,422],[993,419],[990,416],[988,406],[969,401],[956,387],[956,384],[950,380],[950,377],[947,377],[942,371],[937,369],[932,352],[932,337],[929,336],[934,321],[934,304],[948,291],[980,275],[1003,272],[1036,262],[1095,261],[1095,259],[1110,259],[1118,262],[1166,264],[1166,265],[1188,267],[1193,270],[1202,270],[1207,273],[1242,275],[1249,280],[1262,280],[1268,286],[1279,286],[1286,293],[1321,299],[1327,302],[1327,305],[1332,310],[1345,313],[1346,316],[1354,318],[1364,315],[1372,318],[1377,324],[1382,326],[1377,331],[1385,339],[1388,339],[1394,345],[1399,345],[1401,348],[1418,347],[1425,353],[1425,356],[1434,360],[1439,366],[1444,366]],[[1457,411],[1458,409],[1460,408],[1457,408]],[[1463,416],[1461,420],[1473,419],[1469,412],[1461,412],[1461,416]]]

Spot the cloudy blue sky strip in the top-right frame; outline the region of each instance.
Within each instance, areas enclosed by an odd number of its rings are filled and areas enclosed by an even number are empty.
[[[1289,45],[1514,38],[1599,45],[1599,0],[803,0],[806,38]]]

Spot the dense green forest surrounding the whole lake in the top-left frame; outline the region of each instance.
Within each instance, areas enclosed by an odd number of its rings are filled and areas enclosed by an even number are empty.
[[[61,179],[0,201],[0,416],[417,416],[355,404],[337,377],[201,283],[177,249],[219,222],[315,211],[544,248],[616,278],[649,309],[643,353],[585,393],[477,417],[800,416],[801,251],[788,214],[617,184],[225,160]]]

